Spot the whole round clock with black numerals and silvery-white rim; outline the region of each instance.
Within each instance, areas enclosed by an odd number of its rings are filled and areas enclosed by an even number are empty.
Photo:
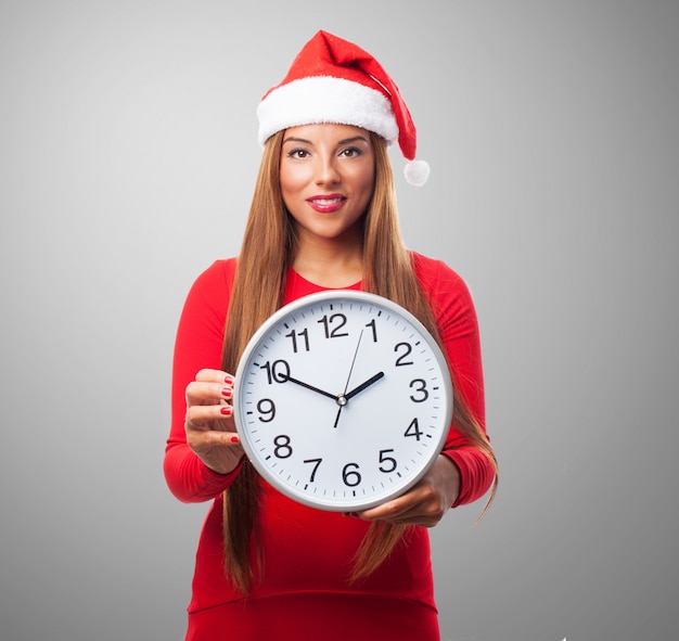
[[[243,354],[233,398],[259,474],[333,511],[403,493],[440,452],[452,415],[448,368],[424,326],[386,298],[346,290],[271,316]]]

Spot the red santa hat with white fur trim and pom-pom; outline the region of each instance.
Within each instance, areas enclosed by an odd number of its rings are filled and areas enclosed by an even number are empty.
[[[398,87],[370,53],[326,31],[318,31],[297,54],[280,85],[257,107],[258,140],[287,127],[335,123],[354,125],[398,141],[406,180],[426,182],[430,166],[415,161],[417,131]]]

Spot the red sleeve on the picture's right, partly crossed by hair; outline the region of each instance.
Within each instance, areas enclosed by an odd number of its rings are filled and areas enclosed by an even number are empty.
[[[470,409],[486,432],[484,374],[478,321],[464,281],[444,262],[415,254],[415,272],[430,303],[450,367]],[[453,507],[471,503],[488,491],[495,471],[491,462],[451,426],[443,453],[460,470],[461,487]]]

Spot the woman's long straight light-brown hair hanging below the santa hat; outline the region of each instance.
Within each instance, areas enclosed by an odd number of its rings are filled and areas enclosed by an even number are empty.
[[[363,222],[362,289],[409,309],[438,337],[426,295],[414,273],[411,254],[402,242],[385,141],[374,133],[371,133],[371,141],[375,155],[375,184]],[[252,335],[283,302],[285,275],[295,249],[295,233],[280,189],[282,142],[283,131],[267,141],[257,176],[225,330],[221,364],[228,372],[236,370]],[[452,380],[457,392],[454,375]],[[460,395],[456,395],[456,428],[488,457],[497,472],[496,458],[488,439],[460,399]],[[481,517],[492,501],[496,486],[497,474]],[[252,581],[264,569],[257,537],[258,509],[257,473],[246,463],[223,495],[225,567],[244,594],[248,593]],[[405,526],[388,523],[372,524],[357,551],[354,569],[347,580],[356,581],[379,567],[400,541],[406,529]],[[255,549],[256,567],[251,564],[251,546]]]

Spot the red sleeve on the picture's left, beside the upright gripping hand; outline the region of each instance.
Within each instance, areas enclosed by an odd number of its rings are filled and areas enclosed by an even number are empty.
[[[214,499],[233,480],[217,474],[187,445],[184,416],[187,385],[202,369],[220,369],[221,346],[235,260],[218,260],[193,283],[177,329],[172,363],[171,425],[164,472],[170,491],[187,503]]]

